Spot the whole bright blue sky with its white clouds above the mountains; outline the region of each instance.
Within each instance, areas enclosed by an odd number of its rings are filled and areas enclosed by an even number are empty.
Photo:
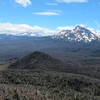
[[[84,25],[100,30],[100,0],[0,0],[0,32],[52,30]]]

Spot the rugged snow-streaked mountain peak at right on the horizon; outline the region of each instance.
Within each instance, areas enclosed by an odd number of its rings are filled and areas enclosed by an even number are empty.
[[[62,30],[58,34],[54,35],[53,38],[78,42],[91,42],[92,40],[97,40],[99,37],[84,27],[76,26],[72,30]]]

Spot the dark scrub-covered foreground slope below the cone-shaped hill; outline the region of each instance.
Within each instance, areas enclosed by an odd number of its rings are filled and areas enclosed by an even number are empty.
[[[100,80],[45,70],[0,72],[1,100],[100,100]]]

